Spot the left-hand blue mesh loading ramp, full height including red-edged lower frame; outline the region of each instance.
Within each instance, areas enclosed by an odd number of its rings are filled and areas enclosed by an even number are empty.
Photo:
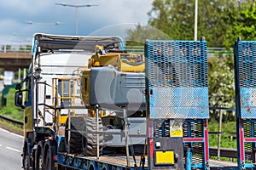
[[[203,38],[201,41],[148,40],[145,55],[148,168],[154,169],[150,162],[154,160],[156,142],[178,142],[172,140],[178,137],[172,138],[172,125],[166,123],[167,119],[183,122],[179,143],[166,144],[176,153],[180,154],[180,148],[186,151],[185,156],[183,153],[179,156],[183,161],[177,161],[177,167],[183,169],[185,163],[186,169],[209,169],[207,42]]]

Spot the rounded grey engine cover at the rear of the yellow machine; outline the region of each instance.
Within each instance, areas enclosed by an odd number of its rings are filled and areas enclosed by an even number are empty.
[[[117,71],[114,67],[90,70],[90,105],[109,110],[145,110],[145,74]]]

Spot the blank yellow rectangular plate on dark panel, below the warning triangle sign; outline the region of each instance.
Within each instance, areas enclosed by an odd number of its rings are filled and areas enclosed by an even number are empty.
[[[174,165],[174,151],[173,150],[155,150],[154,164],[155,165]]]

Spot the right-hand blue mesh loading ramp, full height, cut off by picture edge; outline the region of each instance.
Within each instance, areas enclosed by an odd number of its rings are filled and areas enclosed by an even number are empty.
[[[235,88],[236,88],[236,136],[237,164],[239,169],[255,169],[255,125],[256,111],[254,93],[256,90],[256,42],[241,41],[234,45]]]

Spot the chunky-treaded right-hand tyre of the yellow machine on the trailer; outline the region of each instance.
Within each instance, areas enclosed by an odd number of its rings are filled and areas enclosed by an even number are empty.
[[[102,120],[99,121],[99,131],[103,131]],[[102,145],[103,145],[103,134],[99,134],[99,148],[100,155],[102,154]],[[96,145],[96,118],[95,117],[86,117],[84,120],[83,127],[83,154],[84,156],[96,156],[97,154],[97,145]]]

